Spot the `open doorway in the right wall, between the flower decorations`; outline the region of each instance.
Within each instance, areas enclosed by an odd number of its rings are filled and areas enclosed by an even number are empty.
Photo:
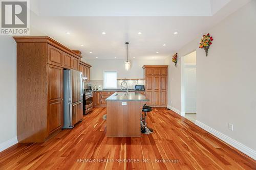
[[[191,122],[197,119],[196,51],[182,57],[182,113]]]

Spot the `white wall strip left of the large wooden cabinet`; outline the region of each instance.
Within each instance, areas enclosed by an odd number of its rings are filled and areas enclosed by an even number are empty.
[[[16,42],[0,36],[0,151],[16,139]]]

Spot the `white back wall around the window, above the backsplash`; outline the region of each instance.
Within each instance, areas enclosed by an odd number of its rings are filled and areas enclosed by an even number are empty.
[[[164,60],[132,60],[131,69],[124,69],[124,60],[86,60],[92,65],[91,80],[103,80],[104,70],[117,70],[117,78],[143,79],[143,65],[164,65]]]

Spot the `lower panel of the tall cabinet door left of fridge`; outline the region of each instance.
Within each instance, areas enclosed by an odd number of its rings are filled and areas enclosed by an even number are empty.
[[[62,127],[62,120],[63,120],[62,108],[63,108],[63,102],[61,100],[49,104],[49,114],[48,114],[49,133],[53,132],[56,129],[60,129]]]

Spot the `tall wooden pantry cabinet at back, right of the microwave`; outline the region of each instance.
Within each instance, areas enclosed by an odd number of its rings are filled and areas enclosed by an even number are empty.
[[[167,106],[167,65],[144,65],[145,95],[148,106]]]

